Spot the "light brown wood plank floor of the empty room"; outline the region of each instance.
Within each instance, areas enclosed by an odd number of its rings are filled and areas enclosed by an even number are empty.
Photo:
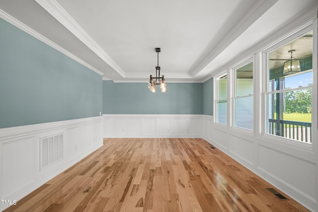
[[[5,212],[308,211],[265,188],[273,186],[202,139],[104,139]]]

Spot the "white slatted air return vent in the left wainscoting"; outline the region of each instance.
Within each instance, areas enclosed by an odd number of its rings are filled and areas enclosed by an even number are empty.
[[[40,138],[40,169],[63,158],[63,133]]]

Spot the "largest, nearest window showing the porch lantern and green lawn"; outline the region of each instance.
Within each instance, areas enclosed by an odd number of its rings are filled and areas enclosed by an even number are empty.
[[[311,143],[313,32],[268,54],[266,133]]]

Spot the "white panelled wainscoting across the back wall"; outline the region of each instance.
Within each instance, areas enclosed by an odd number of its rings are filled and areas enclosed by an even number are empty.
[[[103,135],[104,138],[202,138],[203,117],[104,114]]]

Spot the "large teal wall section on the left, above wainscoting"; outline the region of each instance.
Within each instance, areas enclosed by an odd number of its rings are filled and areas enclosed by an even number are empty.
[[[0,128],[99,112],[102,76],[0,18]]]

